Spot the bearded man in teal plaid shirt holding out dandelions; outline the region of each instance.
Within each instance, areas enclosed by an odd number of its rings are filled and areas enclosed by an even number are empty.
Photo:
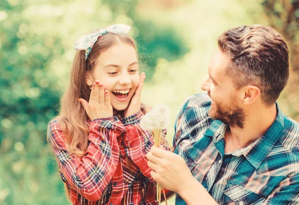
[[[218,37],[209,76],[183,104],[175,153],[152,147],[151,176],[176,205],[299,204],[299,123],[276,100],[289,51],[271,27],[240,26]]]

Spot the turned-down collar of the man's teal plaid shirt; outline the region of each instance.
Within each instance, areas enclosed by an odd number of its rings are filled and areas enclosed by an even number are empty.
[[[285,115],[280,110],[278,104],[276,103],[277,116],[271,125],[271,127],[256,140],[251,149],[244,153],[246,159],[254,166],[256,169],[259,168],[265,157],[269,154],[277,140],[282,137],[284,131]],[[210,126],[207,128],[204,135],[213,137],[213,142],[218,148],[221,155],[224,155],[224,133],[226,130],[226,124],[220,120],[214,120]]]

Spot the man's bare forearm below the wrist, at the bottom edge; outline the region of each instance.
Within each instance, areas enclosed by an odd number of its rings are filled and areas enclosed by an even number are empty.
[[[187,203],[187,205],[218,205],[204,187],[194,178],[188,180],[187,185],[177,194]]]

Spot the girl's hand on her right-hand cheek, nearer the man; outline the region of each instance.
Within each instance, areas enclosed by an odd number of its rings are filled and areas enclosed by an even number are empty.
[[[146,79],[146,74],[141,73],[139,77],[139,85],[136,88],[135,94],[131,99],[131,103],[129,104],[128,108],[124,112],[125,117],[136,114],[140,110],[140,97],[141,97],[141,91],[145,79]]]

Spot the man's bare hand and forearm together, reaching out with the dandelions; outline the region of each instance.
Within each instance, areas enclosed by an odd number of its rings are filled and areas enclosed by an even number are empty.
[[[185,161],[175,153],[152,146],[147,154],[152,178],[167,190],[176,192],[188,205],[198,202],[217,205],[204,187],[192,176]]]

